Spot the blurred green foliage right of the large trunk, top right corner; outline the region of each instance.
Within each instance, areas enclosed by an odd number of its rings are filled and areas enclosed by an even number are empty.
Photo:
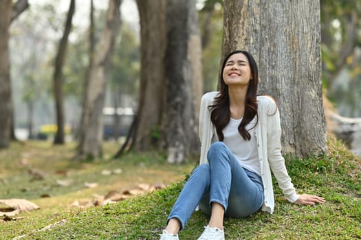
[[[322,81],[341,115],[360,117],[361,2],[321,1]]]

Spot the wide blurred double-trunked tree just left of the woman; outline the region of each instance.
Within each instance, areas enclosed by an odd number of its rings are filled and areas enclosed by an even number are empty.
[[[198,152],[201,39],[195,1],[137,1],[141,25],[140,101],[126,143],[166,149],[181,163]],[[197,112],[197,113],[196,113]]]

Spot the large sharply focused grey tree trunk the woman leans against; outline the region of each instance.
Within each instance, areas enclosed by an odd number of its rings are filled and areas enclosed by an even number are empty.
[[[284,152],[326,152],[320,1],[226,1],[222,55],[234,49],[252,53],[259,93],[278,101]]]

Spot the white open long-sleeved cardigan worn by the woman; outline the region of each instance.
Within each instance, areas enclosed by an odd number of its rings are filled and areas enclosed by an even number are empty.
[[[199,139],[201,141],[201,158],[199,164],[207,164],[207,152],[218,136],[215,126],[210,121],[210,110],[214,98],[219,92],[210,92],[201,98],[201,110],[199,113]],[[264,187],[265,202],[262,211],[273,213],[274,193],[272,186],[271,170],[276,177],[278,186],[289,202],[298,199],[296,190],[289,178],[285,167],[285,159],[281,154],[281,121],[276,103],[271,97],[259,96],[258,115],[259,121],[254,135],[256,136],[259,163],[261,165],[261,177]]]

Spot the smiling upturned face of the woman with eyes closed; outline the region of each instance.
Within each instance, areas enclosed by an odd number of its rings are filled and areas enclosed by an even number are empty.
[[[243,53],[230,56],[223,68],[222,77],[228,86],[248,86],[252,74],[247,57]]]

